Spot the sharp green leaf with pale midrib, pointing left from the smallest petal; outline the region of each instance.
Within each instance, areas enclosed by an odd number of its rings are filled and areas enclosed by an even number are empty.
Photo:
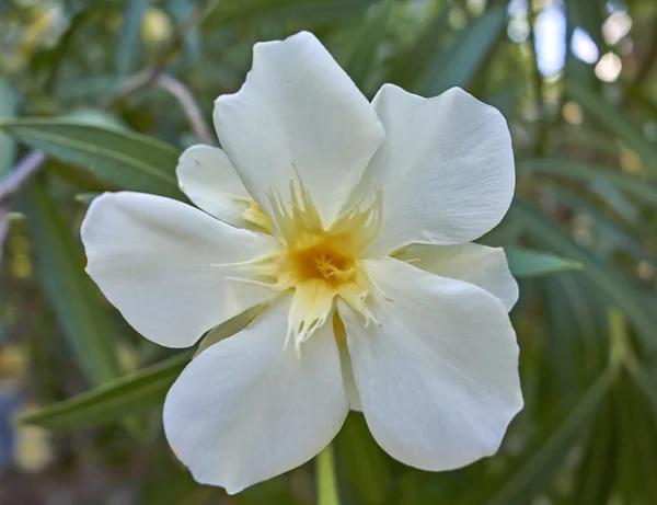
[[[87,119],[18,119],[0,123],[0,129],[122,190],[182,198],[175,177],[177,151],[146,135]]]

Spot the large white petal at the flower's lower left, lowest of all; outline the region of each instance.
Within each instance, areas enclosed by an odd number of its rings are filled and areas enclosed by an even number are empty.
[[[201,484],[228,493],[296,468],[337,434],[348,412],[332,323],[284,349],[290,297],[185,368],[164,403],[164,431]]]

